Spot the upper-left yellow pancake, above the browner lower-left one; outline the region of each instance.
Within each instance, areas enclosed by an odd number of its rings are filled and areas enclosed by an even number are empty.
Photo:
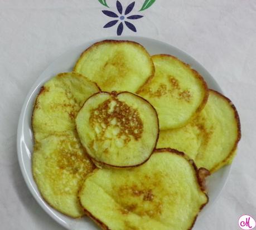
[[[41,88],[32,115],[35,139],[75,129],[75,117],[85,100],[99,92],[94,82],[79,73],[60,73]]]

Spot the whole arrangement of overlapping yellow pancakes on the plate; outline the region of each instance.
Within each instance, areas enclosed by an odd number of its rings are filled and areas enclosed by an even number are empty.
[[[231,101],[188,64],[136,42],[86,49],[42,86],[32,114],[42,197],[102,229],[191,229],[205,178],[235,156]]]

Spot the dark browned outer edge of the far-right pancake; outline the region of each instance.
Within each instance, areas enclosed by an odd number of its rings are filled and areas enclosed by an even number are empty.
[[[238,111],[236,110],[233,102],[231,102],[231,100],[228,98],[228,97],[225,97],[223,94],[221,94],[220,92],[218,91],[215,91],[214,89],[210,89],[210,92],[212,93],[215,93],[216,95],[222,97],[223,99],[225,99],[229,104],[230,104],[230,107],[233,109],[234,111],[234,116],[235,116],[235,120],[236,120],[236,124],[237,124],[237,132],[238,132],[238,136],[236,138],[236,141],[234,143],[234,146],[233,148],[231,149],[229,155],[221,162],[219,162],[218,164],[216,164],[214,167],[212,167],[212,169],[210,170],[211,173],[217,171],[220,167],[221,164],[225,163],[227,159],[229,159],[233,153],[235,152],[236,150],[236,147],[238,146],[238,142],[240,141],[241,139],[241,123],[240,123],[240,118],[239,118],[239,114],[238,114]],[[227,164],[227,162],[225,163]],[[224,165],[225,165],[224,164]]]

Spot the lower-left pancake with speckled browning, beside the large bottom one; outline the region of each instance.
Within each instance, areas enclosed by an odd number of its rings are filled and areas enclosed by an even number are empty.
[[[84,215],[77,193],[93,169],[75,131],[51,135],[35,143],[33,177],[42,197],[61,213],[74,218]]]

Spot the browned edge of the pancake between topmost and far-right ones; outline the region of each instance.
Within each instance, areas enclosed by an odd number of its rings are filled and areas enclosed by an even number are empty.
[[[183,66],[186,66],[187,68],[189,68],[192,73],[194,74],[194,76],[199,79],[199,81],[201,82],[202,84],[202,88],[205,89],[205,95],[204,95],[204,98],[202,98],[202,101],[201,101],[201,104],[200,106],[196,109],[195,113],[193,114],[193,116],[191,116],[191,118],[185,122],[184,124],[182,124],[181,127],[185,126],[187,123],[189,123],[193,118],[195,118],[197,116],[197,114],[199,114],[199,112],[202,111],[202,109],[205,107],[205,104],[207,102],[207,99],[209,97],[209,88],[207,86],[207,83],[205,82],[204,78],[199,74],[199,72],[197,72],[195,69],[191,68],[191,66],[185,62],[182,62],[180,59],[178,59],[177,57],[175,56],[172,56],[170,54],[155,54],[152,56],[152,59],[153,57],[171,57],[173,59],[176,59],[178,62],[180,62]],[[152,78],[151,78],[152,79]],[[150,83],[151,82],[151,79],[150,81],[147,81],[145,84],[143,84],[141,86],[141,88],[138,89],[137,93],[140,93],[143,89],[144,86],[146,86],[146,84]],[[181,128],[181,127],[178,127],[178,128]]]

